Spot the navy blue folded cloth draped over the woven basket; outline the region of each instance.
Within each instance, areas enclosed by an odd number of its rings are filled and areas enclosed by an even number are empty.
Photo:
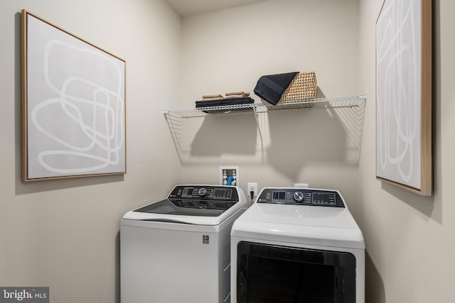
[[[262,76],[257,81],[254,92],[265,101],[275,105],[297,74],[299,72]]]

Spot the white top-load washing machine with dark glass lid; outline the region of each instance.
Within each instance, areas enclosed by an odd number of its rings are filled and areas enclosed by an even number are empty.
[[[230,230],[246,207],[240,187],[177,185],[124,214],[122,303],[229,302]]]

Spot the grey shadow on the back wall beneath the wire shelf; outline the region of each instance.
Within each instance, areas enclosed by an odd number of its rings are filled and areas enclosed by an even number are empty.
[[[346,130],[331,109],[271,111],[267,120],[267,162],[291,179],[306,162],[346,162]],[[257,139],[253,114],[208,115],[191,144],[191,156],[254,158]]]

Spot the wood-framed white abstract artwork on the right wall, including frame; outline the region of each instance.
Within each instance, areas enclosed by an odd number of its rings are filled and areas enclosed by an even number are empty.
[[[385,0],[376,21],[376,175],[432,195],[431,0]]]

